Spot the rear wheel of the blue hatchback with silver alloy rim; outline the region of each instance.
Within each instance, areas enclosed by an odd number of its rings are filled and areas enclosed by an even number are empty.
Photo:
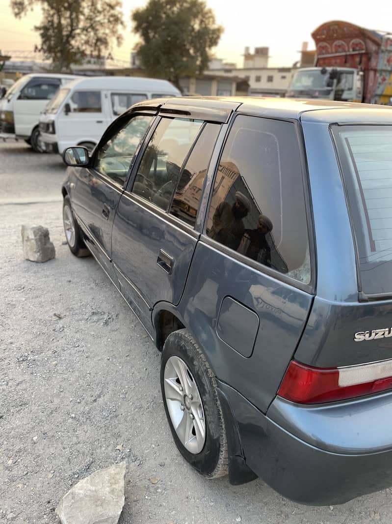
[[[171,434],[181,455],[207,478],[227,474],[227,442],[215,376],[186,330],[170,333],[160,387]]]

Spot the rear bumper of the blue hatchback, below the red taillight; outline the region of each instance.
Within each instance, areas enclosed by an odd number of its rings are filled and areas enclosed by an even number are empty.
[[[392,423],[385,420],[392,394],[317,412],[278,397],[266,416],[233,388],[220,388],[237,421],[247,466],[281,495],[327,506],[392,485]],[[281,409],[282,402],[290,409]]]

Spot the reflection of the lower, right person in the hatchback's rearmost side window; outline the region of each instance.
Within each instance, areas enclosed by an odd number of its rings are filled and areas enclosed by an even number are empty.
[[[245,230],[238,251],[264,266],[271,267],[271,248],[266,235],[272,231],[272,222],[266,215],[260,215],[257,229]]]

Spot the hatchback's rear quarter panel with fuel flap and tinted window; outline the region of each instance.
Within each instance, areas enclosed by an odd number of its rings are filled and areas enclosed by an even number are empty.
[[[178,307],[218,379],[263,412],[313,303],[296,125],[235,117]]]

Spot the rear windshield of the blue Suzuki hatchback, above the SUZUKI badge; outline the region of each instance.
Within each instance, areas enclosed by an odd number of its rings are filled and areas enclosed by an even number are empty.
[[[392,126],[332,126],[366,295],[392,294]]]

